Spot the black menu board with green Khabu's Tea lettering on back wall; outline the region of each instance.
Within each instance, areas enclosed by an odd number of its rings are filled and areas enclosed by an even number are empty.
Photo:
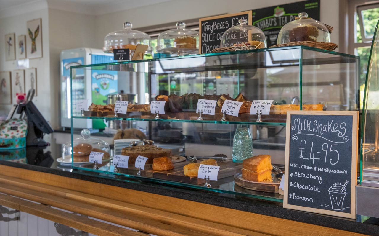
[[[252,10],[253,25],[262,29],[266,35],[267,47],[276,45],[278,34],[283,25],[295,19],[300,12],[320,20],[320,0],[308,0],[290,4],[276,5]]]

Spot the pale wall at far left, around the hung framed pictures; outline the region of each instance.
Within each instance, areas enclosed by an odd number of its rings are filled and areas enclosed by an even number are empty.
[[[43,57],[39,59],[30,59],[29,66],[37,68],[37,91],[38,96],[33,102],[38,106],[42,115],[49,121],[50,119],[50,60],[49,60],[49,21],[48,10],[41,9],[38,11],[27,12],[20,15],[0,19],[0,71],[13,71],[17,69],[16,60],[5,61],[5,34],[15,33],[17,35],[27,35],[26,22],[36,18],[42,18],[42,48]],[[17,59],[17,57],[16,57]],[[14,79],[14,78],[12,78]],[[15,99],[12,99],[15,102]],[[0,115],[8,114],[11,105],[0,105]]]

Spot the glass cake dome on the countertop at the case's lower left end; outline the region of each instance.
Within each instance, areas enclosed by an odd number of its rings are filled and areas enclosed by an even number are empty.
[[[71,148],[71,142],[63,145],[62,157],[64,160],[71,160],[72,150],[74,150],[74,162],[88,162],[91,151],[103,152],[103,159],[109,159],[110,148],[107,142],[102,139],[92,138],[88,129],[81,130],[80,136],[80,138],[73,140],[74,148]]]

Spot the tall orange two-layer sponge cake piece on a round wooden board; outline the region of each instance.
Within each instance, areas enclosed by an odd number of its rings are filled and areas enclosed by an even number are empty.
[[[247,158],[242,162],[242,177],[243,179],[262,182],[264,180],[272,182],[270,155],[258,155]]]

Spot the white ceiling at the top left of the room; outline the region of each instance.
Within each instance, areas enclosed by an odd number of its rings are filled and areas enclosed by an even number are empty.
[[[102,15],[116,11],[154,5],[170,0],[0,0],[0,9],[29,8],[31,5],[45,3],[49,8],[78,12],[90,15]]]

